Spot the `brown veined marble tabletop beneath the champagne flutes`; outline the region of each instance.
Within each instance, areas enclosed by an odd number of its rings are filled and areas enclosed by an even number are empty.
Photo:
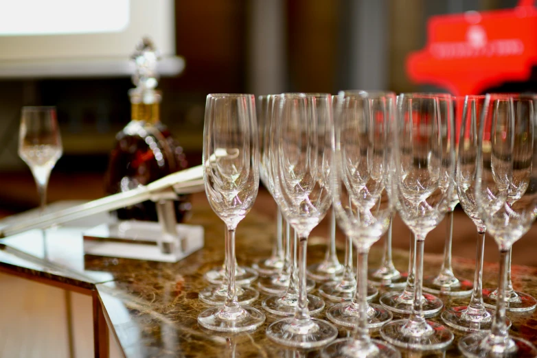
[[[270,342],[264,331],[267,324],[278,319],[270,314],[266,314],[266,323],[251,333],[216,334],[198,326],[196,317],[208,306],[198,301],[197,294],[207,286],[203,273],[223,261],[224,226],[210,208],[203,205],[195,206],[190,223],[204,226],[205,248],[179,263],[84,256],[81,237],[54,236],[54,230],[48,230],[43,244],[38,244],[38,233],[0,241],[3,243],[0,245],[0,268],[67,285],[96,287],[111,331],[128,358],[317,357],[319,350],[291,350]],[[251,265],[255,259],[268,255],[273,233],[273,222],[266,215],[257,211],[249,213],[237,230],[238,262]],[[308,248],[309,263],[321,260],[325,248],[319,244],[321,241],[319,237],[312,238]],[[379,259],[380,251],[374,248],[369,256],[370,267],[376,267]],[[406,270],[407,252],[395,250],[394,261],[398,269]],[[453,261],[456,274],[472,279],[475,264],[471,260],[455,258]],[[426,255],[425,274],[435,274],[440,263],[440,256]],[[515,265],[512,274],[516,289],[537,296],[537,269]],[[484,287],[494,287],[496,276],[497,265],[486,263]],[[312,293],[316,294],[316,291]],[[253,306],[261,308],[264,297],[261,294]],[[446,307],[468,302],[468,298],[442,299]],[[331,303],[327,302],[328,305]],[[537,344],[536,313],[508,315],[513,323],[512,334]],[[324,318],[324,313],[317,317]],[[432,320],[440,322],[439,316]],[[403,357],[458,357],[457,339],[464,333],[454,333],[455,342],[447,350],[403,352]],[[350,334],[341,328],[340,337]],[[378,337],[378,332],[372,332],[372,335]]]

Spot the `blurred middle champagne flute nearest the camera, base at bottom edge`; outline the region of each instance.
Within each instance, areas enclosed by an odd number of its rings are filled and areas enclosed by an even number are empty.
[[[329,318],[330,313],[343,313],[341,318],[344,318],[345,310],[356,311],[347,314],[354,318],[349,320],[354,324],[345,324],[354,326],[354,335],[328,345],[321,355],[325,358],[400,357],[390,344],[369,337],[369,326],[376,323],[379,314],[386,313],[387,320],[391,320],[391,313],[378,305],[368,305],[366,300],[367,254],[372,244],[387,231],[393,211],[387,193],[391,186],[386,185],[391,171],[389,114],[394,112],[389,111],[388,106],[395,105],[396,96],[365,91],[343,91],[339,96],[334,119],[335,169],[330,187],[339,225],[352,237],[358,252],[358,299],[352,305],[343,303],[328,311]]]

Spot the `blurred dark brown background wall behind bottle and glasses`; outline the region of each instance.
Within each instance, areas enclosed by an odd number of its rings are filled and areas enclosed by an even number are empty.
[[[183,145],[190,164],[198,165],[207,93],[444,91],[415,86],[404,71],[409,52],[424,46],[426,20],[516,3],[176,0],[174,45],[185,69],[161,78],[161,119]],[[130,44],[133,50],[135,45]],[[0,77],[0,216],[38,203],[30,170],[17,154],[21,106],[58,108],[64,154],[52,171],[49,202],[95,199],[104,195],[102,180],[115,134],[130,120],[127,91],[132,87],[128,75]]]

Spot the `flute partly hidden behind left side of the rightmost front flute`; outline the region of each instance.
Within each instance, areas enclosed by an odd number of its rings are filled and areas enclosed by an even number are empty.
[[[477,257],[472,297],[468,306],[450,307],[442,312],[442,320],[448,326],[461,331],[483,331],[492,325],[493,311],[483,305],[483,256],[486,226],[475,202],[476,158],[478,150],[479,113],[483,110],[485,96],[466,96],[461,115],[459,153],[457,155],[457,192],[461,206],[477,226]]]

